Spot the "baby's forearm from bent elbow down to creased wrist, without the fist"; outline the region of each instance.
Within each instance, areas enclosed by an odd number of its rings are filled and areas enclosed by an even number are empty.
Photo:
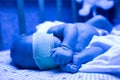
[[[63,42],[61,46],[75,48],[76,41],[78,38],[78,29],[74,24],[67,24],[63,30]]]

